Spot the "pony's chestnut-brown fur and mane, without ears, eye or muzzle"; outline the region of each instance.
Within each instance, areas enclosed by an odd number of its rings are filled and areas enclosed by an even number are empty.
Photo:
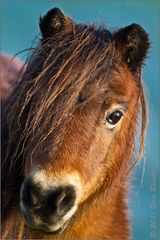
[[[42,40],[4,104],[3,239],[130,236],[125,182],[135,164],[138,114],[140,152],[146,126],[139,68],[130,71],[108,30],[73,25],[70,20],[67,24],[72,25],[68,31]],[[125,118],[115,132],[105,132],[104,112],[120,102],[127,105]],[[78,211],[58,236],[31,230],[20,214],[20,185],[37,165],[48,177],[78,172],[86,189]]]

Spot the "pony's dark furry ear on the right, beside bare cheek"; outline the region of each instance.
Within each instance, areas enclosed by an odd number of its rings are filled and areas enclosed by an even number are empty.
[[[138,24],[121,28],[114,35],[115,47],[128,68],[135,73],[144,63],[150,47],[148,34]]]

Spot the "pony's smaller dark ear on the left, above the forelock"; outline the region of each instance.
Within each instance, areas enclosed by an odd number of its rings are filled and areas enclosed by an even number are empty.
[[[43,39],[46,39],[58,32],[73,28],[73,22],[59,8],[53,8],[45,16],[40,17],[39,27]]]

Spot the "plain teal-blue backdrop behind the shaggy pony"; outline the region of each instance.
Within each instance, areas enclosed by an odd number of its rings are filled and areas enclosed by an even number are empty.
[[[37,42],[38,20],[48,9],[60,7],[76,22],[105,23],[110,29],[139,23],[149,33],[152,47],[143,69],[149,108],[145,155],[133,174],[129,194],[132,239],[160,239],[160,1],[156,0],[3,0],[1,51],[15,55]],[[19,57],[25,60],[27,52]],[[158,229],[159,228],[159,229]]]

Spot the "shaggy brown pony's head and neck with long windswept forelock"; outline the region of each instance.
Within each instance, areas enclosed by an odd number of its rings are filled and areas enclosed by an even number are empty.
[[[2,106],[2,238],[128,239],[148,35],[137,24],[114,33],[75,24],[57,8],[40,30]]]

